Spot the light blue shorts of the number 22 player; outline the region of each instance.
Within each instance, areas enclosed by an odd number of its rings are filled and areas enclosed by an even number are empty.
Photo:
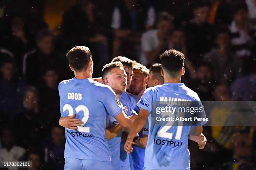
[[[111,162],[65,158],[64,170],[113,170]]]

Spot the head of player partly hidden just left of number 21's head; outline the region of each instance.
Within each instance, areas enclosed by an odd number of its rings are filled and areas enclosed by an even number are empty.
[[[164,77],[161,75],[162,66],[159,63],[151,65],[148,73],[148,87],[164,84]]]

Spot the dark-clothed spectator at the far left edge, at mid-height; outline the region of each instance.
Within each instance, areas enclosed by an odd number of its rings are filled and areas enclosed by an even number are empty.
[[[21,91],[25,84],[18,79],[16,71],[13,58],[6,56],[0,64],[0,112],[2,123],[13,120],[22,108]]]

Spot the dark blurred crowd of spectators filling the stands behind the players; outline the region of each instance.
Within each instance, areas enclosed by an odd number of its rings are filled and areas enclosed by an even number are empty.
[[[201,100],[256,100],[256,0],[0,0],[0,160],[63,169],[58,84],[74,77],[76,45],[90,48],[93,77],[118,55],[149,68],[174,48]],[[255,168],[254,127],[204,131],[192,170]]]

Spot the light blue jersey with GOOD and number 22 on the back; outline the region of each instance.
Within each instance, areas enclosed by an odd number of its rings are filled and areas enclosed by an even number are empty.
[[[84,125],[65,129],[64,158],[111,161],[105,129],[107,112],[115,117],[123,110],[115,92],[91,79],[72,78],[59,84],[61,116],[76,114]]]

